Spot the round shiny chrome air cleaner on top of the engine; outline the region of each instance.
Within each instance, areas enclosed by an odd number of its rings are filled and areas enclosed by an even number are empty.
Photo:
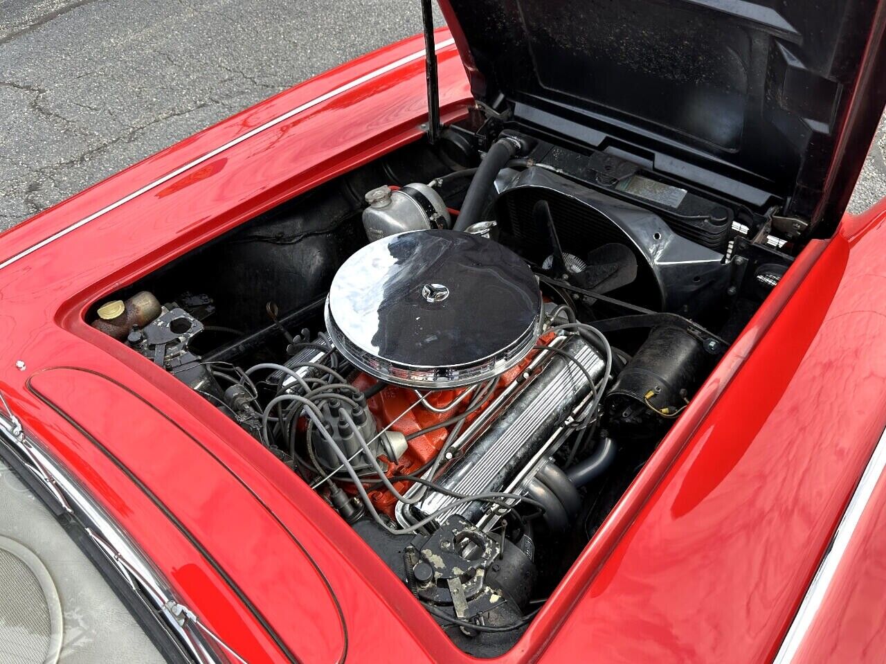
[[[532,270],[497,242],[455,230],[382,238],[332,279],[332,342],[372,376],[444,388],[494,378],[522,360],[540,333]]]

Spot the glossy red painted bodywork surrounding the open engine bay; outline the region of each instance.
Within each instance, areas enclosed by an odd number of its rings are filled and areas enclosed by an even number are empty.
[[[314,491],[83,316],[415,140],[420,49],[286,91],[0,243],[12,410],[250,662],[470,658]],[[451,121],[470,95],[455,49],[439,57]],[[886,339],[886,289],[871,287],[886,278],[883,221],[886,207],[847,218],[806,247],[502,662],[771,660],[886,423],[886,365],[858,362]]]

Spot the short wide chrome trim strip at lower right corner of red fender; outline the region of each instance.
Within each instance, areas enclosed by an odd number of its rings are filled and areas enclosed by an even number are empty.
[[[855,492],[850,498],[846,511],[843,512],[843,518],[836,527],[830,547],[821,559],[815,576],[812,577],[812,583],[806,590],[806,595],[800,608],[797,609],[797,615],[791,623],[788,633],[781,642],[778,654],[773,660],[774,664],[787,664],[794,660],[800,645],[803,644],[804,637],[812,626],[815,615],[819,612],[824,601],[825,595],[828,593],[831,582],[834,581],[834,575],[846,549],[849,547],[852,535],[855,533],[856,527],[859,525],[861,515],[867,509],[867,504],[874,494],[874,488],[877,481],[880,480],[883,470],[886,468],[886,431],[877,442],[874,453],[867,462],[865,472],[861,473],[859,485],[855,488]]]

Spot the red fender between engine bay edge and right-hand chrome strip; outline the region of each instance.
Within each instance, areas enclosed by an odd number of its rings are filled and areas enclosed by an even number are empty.
[[[583,648],[604,661],[772,659],[886,426],[884,218],[881,204],[867,233],[829,243],[664,476],[641,472],[632,490],[655,490],[546,660]]]

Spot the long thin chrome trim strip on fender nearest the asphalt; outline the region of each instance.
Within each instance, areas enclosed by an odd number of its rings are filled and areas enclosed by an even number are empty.
[[[445,39],[442,42],[435,44],[434,50],[440,51],[441,49],[444,49],[447,46],[452,45],[453,43],[455,43],[455,39],[452,39],[452,38]],[[394,60],[392,63],[390,63],[388,65],[379,67],[378,69],[375,69],[375,70],[369,72],[369,74],[363,74],[359,78],[354,79],[354,81],[347,82],[344,85],[339,86],[335,90],[330,90],[329,92],[326,92],[323,95],[320,95],[320,97],[311,99],[310,101],[305,102],[302,105],[296,106],[291,111],[287,111],[283,115],[278,115],[273,120],[267,121],[264,124],[260,125],[259,127],[256,127],[255,129],[251,129],[250,131],[247,131],[245,134],[238,136],[237,138],[234,138],[233,140],[230,140],[228,143],[221,145],[221,147],[215,148],[211,152],[206,152],[206,154],[204,154],[202,157],[198,157],[197,159],[190,161],[189,163],[185,164],[184,166],[180,166],[179,168],[176,168],[171,173],[167,173],[167,175],[159,178],[159,180],[154,180],[151,184],[145,184],[144,187],[142,187],[141,189],[139,189],[137,191],[133,191],[132,193],[128,194],[128,196],[123,197],[122,199],[112,203],[111,205],[109,205],[107,207],[103,207],[102,209],[98,210],[98,212],[95,212],[92,215],[89,215],[85,219],[81,219],[79,222],[72,223],[70,226],[67,226],[64,229],[59,230],[57,233],[51,235],[49,238],[45,238],[45,239],[41,240],[40,242],[38,242],[34,246],[29,246],[24,251],[21,251],[18,254],[15,254],[14,256],[7,258],[4,262],[0,262],[0,270],[3,270],[4,268],[12,265],[12,263],[19,261],[20,259],[24,258],[25,256],[27,256],[29,254],[33,254],[38,249],[42,249],[44,246],[50,244],[51,242],[55,242],[58,238],[65,237],[72,230],[77,230],[81,226],[85,226],[87,223],[96,220],[98,217],[106,215],[107,213],[117,209],[121,205],[125,205],[130,200],[136,199],[139,196],[141,196],[142,194],[147,193],[148,191],[151,191],[152,189],[155,189],[156,187],[159,187],[160,184],[167,183],[169,180],[173,179],[174,177],[182,175],[184,172],[190,170],[191,168],[194,168],[195,166],[199,166],[204,161],[210,160],[213,157],[217,156],[218,154],[221,154],[221,152],[225,152],[226,150],[229,150],[230,148],[234,147],[235,145],[239,145],[239,144],[243,143],[248,138],[252,138],[253,136],[258,135],[267,129],[275,127],[276,125],[280,124],[281,122],[289,120],[291,117],[298,115],[299,113],[304,113],[309,108],[313,108],[315,105],[323,104],[324,101],[327,101],[333,97],[338,97],[338,95],[342,94],[343,92],[347,92],[348,90],[353,90],[354,88],[356,88],[357,86],[359,86],[365,82],[371,81],[372,79],[377,78],[378,76],[381,76],[383,74],[387,74],[388,72],[392,71],[393,69],[397,69],[400,66],[408,65],[408,63],[413,62],[413,61],[420,59],[420,58],[424,58],[424,49],[422,49],[421,51],[416,51],[415,53],[410,53],[409,55],[404,56],[403,58],[400,58],[398,60]]]

